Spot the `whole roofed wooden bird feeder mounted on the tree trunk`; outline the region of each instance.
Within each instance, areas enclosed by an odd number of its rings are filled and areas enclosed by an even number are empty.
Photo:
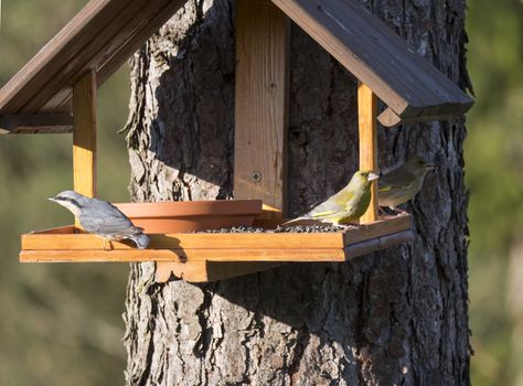
[[[184,0],[92,0],[1,90],[0,132],[73,133],[74,189],[96,195],[96,92]],[[237,0],[235,199],[266,204],[257,225],[286,215],[289,25],[298,24],[357,79],[360,168],[377,170],[376,126],[444,119],[473,100],[355,0]],[[377,115],[380,98],[386,108]],[[254,144],[256,143],[256,144]],[[148,249],[77,226],[22,235],[22,262],[157,261],[212,281],[286,261],[345,261],[413,237],[408,214],[378,216],[376,185],[360,224],[322,234],[152,234]]]

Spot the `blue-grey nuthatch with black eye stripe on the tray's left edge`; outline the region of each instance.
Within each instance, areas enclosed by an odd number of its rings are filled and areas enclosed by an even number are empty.
[[[106,201],[88,199],[73,191],[64,191],[47,200],[73,212],[88,233],[109,242],[130,239],[139,249],[149,245],[149,237],[143,234],[143,229],[132,225],[124,213]]]

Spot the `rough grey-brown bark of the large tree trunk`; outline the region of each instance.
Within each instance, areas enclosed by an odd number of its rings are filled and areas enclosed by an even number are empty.
[[[365,3],[467,85],[463,0]],[[136,201],[231,197],[234,2],[189,1],[135,56],[129,156]],[[356,169],[356,83],[296,25],[290,211]],[[461,120],[380,130],[380,164],[438,163],[407,210],[409,246],[346,264],[289,264],[210,285],[154,283],[134,264],[129,385],[467,385],[467,191]]]

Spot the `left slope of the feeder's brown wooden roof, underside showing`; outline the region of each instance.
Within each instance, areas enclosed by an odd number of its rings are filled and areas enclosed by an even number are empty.
[[[63,112],[88,68],[98,86],[183,0],[92,0],[0,90],[0,114]]]

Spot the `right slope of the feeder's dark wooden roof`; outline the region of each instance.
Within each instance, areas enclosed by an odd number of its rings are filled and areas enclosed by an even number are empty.
[[[473,99],[354,0],[273,0],[398,117],[466,112]]]

